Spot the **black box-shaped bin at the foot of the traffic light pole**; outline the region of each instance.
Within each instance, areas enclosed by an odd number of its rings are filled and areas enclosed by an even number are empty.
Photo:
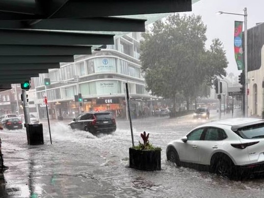
[[[25,124],[28,145],[43,145],[43,126],[42,124]]]

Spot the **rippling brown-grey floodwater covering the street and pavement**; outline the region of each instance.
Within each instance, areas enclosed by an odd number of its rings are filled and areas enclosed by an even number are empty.
[[[210,120],[214,118],[212,113]],[[165,149],[170,140],[210,120],[193,120],[192,116],[133,120],[135,145],[145,130],[150,142],[162,148],[161,171],[155,172],[129,168],[128,121],[117,121],[116,132],[98,137],[72,130],[65,121],[52,122],[53,145],[46,123],[44,145],[38,146],[27,145],[26,129],[3,130],[3,154],[10,169],[4,172],[0,198],[264,197],[264,179],[230,181],[167,162]]]

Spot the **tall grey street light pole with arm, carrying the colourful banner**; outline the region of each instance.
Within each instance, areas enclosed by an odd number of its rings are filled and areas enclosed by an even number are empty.
[[[217,14],[232,14],[244,16],[244,71],[245,71],[245,90],[244,90],[244,108],[245,108],[245,117],[248,117],[248,99],[247,99],[247,8],[244,8],[244,14],[230,13],[219,11]]]

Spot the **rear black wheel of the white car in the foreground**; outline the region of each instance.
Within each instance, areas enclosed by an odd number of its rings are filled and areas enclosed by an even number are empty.
[[[218,158],[215,166],[215,173],[232,179],[235,175],[235,165],[229,157]]]

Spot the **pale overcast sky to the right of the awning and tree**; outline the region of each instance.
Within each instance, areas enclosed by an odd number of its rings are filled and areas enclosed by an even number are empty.
[[[241,71],[238,71],[234,55],[234,21],[244,21],[244,17],[215,13],[223,11],[244,14],[244,7],[247,7],[248,29],[256,23],[264,22],[264,0],[200,0],[192,5],[192,12],[186,12],[202,16],[203,22],[207,25],[207,47],[214,38],[219,38],[223,42],[229,62],[227,72],[235,75],[239,75]]]

